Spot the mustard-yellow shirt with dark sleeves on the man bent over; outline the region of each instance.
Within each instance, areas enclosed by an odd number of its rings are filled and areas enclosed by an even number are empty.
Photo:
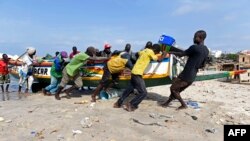
[[[112,56],[108,61],[108,69],[111,74],[120,73],[125,69],[125,65],[128,62],[128,59],[121,58],[120,55]]]

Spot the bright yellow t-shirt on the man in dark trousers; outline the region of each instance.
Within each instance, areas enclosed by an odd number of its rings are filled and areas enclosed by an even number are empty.
[[[132,73],[135,75],[143,75],[143,72],[147,68],[151,59],[154,61],[158,59],[153,50],[146,48],[140,51],[139,58],[132,69]]]

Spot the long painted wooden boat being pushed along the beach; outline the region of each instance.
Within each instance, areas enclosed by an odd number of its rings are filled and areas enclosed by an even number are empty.
[[[10,64],[13,66],[15,65],[13,61],[10,62]],[[52,60],[45,60],[41,64],[34,66],[33,74],[35,83],[32,85],[32,92],[37,92],[50,84],[51,65]],[[20,67],[20,64],[12,67],[10,74],[14,78],[19,78],[18,70]],[[178,61],[171,55],[170,57],[164,58],[162,62],[151,61],[144,72],[143,79],[145,80],[147,87],[171,84],[171,78],[177,76],[182,68],[183,66],[178,65]],[[96,87],[102,78],[103,62],[96,61],[92,64],[88,63],[80,69],[80,72],[82,74],[84,86]],[[225,78],[243,72],[244,71],[203,71],[198,73],[196,81]],[[128,69],[125,69],[121,73],[119,77],[119,88],[125,88],[128,86],[130,74],[131,72]],[[70,84],[72,84],[72,82],[70,82]]]

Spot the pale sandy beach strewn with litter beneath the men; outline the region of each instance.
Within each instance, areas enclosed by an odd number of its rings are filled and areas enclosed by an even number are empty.
[[[91,104],[92,91],[74,91],[71,99],[60,101],[41,93],[21,100],[10,97],[0,101],[0,140],[221,141],[224,124],[250,124],[249,84],[194,82],[181,95],[198,106],[180,111],[177,101],[168,108],[159,106],[169,87],[147,88],[147,98],[134,112],[114,109],[117,98]],[[80,101],[85,103],[74,104]]]

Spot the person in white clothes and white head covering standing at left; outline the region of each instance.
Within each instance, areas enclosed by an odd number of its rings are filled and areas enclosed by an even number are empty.
[[[33,77],[33,65],[36,64],[36,60],[34,58],[34,55],[36,54],[36,49],[33,47],[29,47],[26,51],[26,54],[22,58],[22,66],[19,70],[19,88],[18,93],[21,93],[22,86],[26,82],[27,87],[25,89],[25,93],[27,94],[29,90],[31,89],[31,86],[34,81]]]

